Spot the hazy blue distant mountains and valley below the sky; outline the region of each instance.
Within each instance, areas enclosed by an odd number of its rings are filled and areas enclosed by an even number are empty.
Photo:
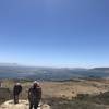
[[[33,78],[44,81],[62,81],[74,77],[109,77],[109,68],[35,68],[16,63],[0,63],[0,78]]]

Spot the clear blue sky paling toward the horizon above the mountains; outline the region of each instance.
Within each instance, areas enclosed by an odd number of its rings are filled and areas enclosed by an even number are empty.
[[[0,0],[0,63],[109,66],[109,0]]]

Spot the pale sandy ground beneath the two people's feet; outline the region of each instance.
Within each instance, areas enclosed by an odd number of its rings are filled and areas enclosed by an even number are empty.
[[[20,104],[14,105],[13,100],[8,100],[0,106],[0,109],[29,109],[27,100],[20,100]],[[51,109],[49,105],[44,104],[38,107],[38,109]]]

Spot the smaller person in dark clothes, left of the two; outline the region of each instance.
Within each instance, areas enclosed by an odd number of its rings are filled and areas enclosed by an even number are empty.
[[[13,88],[14,104],[19,104],[19,95],[22,92],[22,86],[20,83],[16,83]]]

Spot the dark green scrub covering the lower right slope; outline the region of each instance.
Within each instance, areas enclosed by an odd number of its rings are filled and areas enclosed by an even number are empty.
[[[99,95],[78,94],[69,100],[66,98],[51,98],[52,109],[107,109],[109,108],[109,92]]]

